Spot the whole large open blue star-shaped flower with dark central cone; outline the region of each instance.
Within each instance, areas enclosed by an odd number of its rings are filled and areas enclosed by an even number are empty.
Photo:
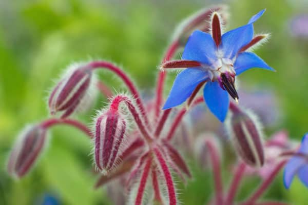
[[[247,25],[223,35],[221,35],[219,14],[214,12],[211,34],[198,30],[193,32],[182,55],[182,68],[187,69],[179,73],[175,79],[163,109],[182,104],[200,83],[207,81],[203,89],[204,100],[209,110],[223,122],[229,107],[228,93],[236,101],[239,98],[234,87],[235,76],[251,68],[274,71],[256,54],[245,52],[266,37],[266,35],[254,37],[253,27],[253,23],[264,12],[265,9],[254,15]],[[189,66],[189,61],[194,63]],[[200,66],[194,67],[196,63]]]

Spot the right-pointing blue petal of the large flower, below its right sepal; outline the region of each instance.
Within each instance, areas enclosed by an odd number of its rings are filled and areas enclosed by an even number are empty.
[[[259,56],[251,52],[240,53],[235,61],[234,69],[237,75],[251,68],[263,68],[275,71],[269,67]]]

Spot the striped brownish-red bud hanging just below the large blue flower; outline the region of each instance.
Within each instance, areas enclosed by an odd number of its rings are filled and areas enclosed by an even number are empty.
[[[230,104],[230,110],[232,114],[226,126],[238,154],[248,165],[262,167],[264,151],[261,128],[256,116],[250,111],[239,109],[234,104]]]

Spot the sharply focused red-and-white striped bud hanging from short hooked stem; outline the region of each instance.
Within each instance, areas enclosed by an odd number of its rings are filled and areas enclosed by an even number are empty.
[[[97,168],[107,174],[120,163],[126,131],[126,120],[112,109],[95,120],[94,161]]]

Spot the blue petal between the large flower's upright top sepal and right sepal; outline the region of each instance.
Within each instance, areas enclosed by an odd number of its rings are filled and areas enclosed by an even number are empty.
[[[224,53],[224,57],[234,58],[243,46],[251,42],[253,36],[254,27],[252,24],[247,24],[223,34],[220,48]]]

